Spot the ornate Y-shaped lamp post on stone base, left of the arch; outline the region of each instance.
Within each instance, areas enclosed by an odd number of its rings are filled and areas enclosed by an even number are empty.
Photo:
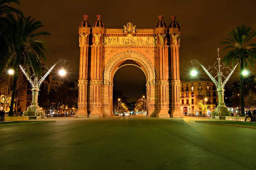
[[[42,111],[42,109],[38,106],[38,92],[39,92],[39,87],[40,85],[43,83],[44,79],[48,76],[48,74],[50,74],[50,72],[53,70],[53,68],[58,64],[65,64],[66,62],[68,62],[67,60],[64,59],[59,59],[47,72],[46,74],[41,77],[41,79],[38,81],[38,77],[34,77],[34,80],[32,81],[31,77],[29,77],[28,73],[22,68],[21,65],[20,69],[22,70],[22,72],[25,74],[25,76],[27,77],[27,79],[29,80],[31,86],[32,86],[32,103],[31,105],[28,107],[27,111],[24,111],[24,116],[42,116],[45,117],[45,112]],[[63,70],[63,69],[62,69]],[[62,71],[63,73],[63,71]],[[64,74],[63,74],[64,75]]]

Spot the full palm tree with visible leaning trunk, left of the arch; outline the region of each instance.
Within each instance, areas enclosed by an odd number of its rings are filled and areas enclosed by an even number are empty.
[[[44,41],[39,39],[40,36],[49,36],[48,32],[38,31],[44,26],[40,21],[35,19],[17,17],[12,20],[11,29],[9,29],[10,51],[7,55],[1,56],[0,72],[6,68],[15,70],[13,75],[13,86],[9,116],[13,115],[13,102],[15,97],[15,90],[18,80],[19,65],[25,68],[31,67],[35,76],[41,75],[40,58],[45,60],[44,52],[48,52],[44,46]]]

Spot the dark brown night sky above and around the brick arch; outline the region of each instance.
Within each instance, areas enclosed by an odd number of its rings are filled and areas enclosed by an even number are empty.
[[[127,22],[133,22],[136,28],[155,28],[158,15],[164,16],[167,25],[171,22],[170,16],[177,15],[176,21],[181,26],[180,75],[183,80],[189,78],[189,60],[198,59],[203,65],[215,62],[216,48],[222,49],[220,42],[232,28],[246,24],[256,30],[255,0],[21,0],[20,3],[17,8],[25,16],[42,21],[43,30],[51,33],[50,37],[44,38],[50,51],[46,64],[51,65],[58,58],[70,60],[68,78],[72,81],[78,77],[78,24],[83,20],[82,14],[89,15],[91,24],[96,21],[96,14],[102,14],[105,28],[123,28]],[[221,57],[226,52],[221,51]],[[204,75],[203,70],[200,71]],[[235,72],[228,85],[238,79],[239,73]]]

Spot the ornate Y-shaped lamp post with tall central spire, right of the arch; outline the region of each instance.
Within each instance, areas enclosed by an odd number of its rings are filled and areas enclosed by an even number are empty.
[[[234,68],[230,68],[229,66],[226,66],[224,63],[222,63],[220,61],[221,60],[220,55],[219,55],[220,49],[217,48],[217,51],[218,51],[217,61],[212,66],[208,66],[208,68],[204,67],[198,60],[191,60],[189,63],[191,63],[192,65],[195,65],[195,64],[200,65],[217,87],[218,106],[215,109],[215,112],[212,112],[211,118],[225,119],[225,116],[230,116],[231,112],[228,111],[228,109],[224,103],[224,86],[227,83],[230,76],[232,75],[232,73],[234,72],[234,70],[236,69],[238,63],[235,65]],[[217,70],[217,75],[213,77],[211,75],[212,71],[210,71],[210,69]],[[226,73],[228,74],[226,77],[223,75],[223,72],[225,70],[226,70]],[[191,72],[191,75],[196,75],[196,71],[193,70]],[[215,78],[218,78],[218,81]],[[222,81],[223,78],[224,78],[224,81]]]

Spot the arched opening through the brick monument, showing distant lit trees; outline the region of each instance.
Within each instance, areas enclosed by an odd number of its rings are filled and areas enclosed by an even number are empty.
[[[121,62],[113,76],[113,115],[145,115],[146,96],[146,75],[141,66],[133,60]],[[136,102],[140,104],[137,108]]]

